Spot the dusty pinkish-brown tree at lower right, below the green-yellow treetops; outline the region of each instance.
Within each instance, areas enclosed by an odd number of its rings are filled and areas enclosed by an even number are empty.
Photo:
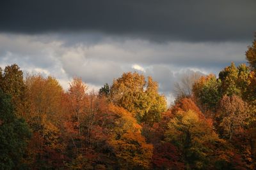
[[[216,130],[221,138],[227,139],[239,150],[246,160],[246,167],[253,169],[253,135],[250,134],[252,113],[246,102],[239,96],[223,96],[216,114]]]

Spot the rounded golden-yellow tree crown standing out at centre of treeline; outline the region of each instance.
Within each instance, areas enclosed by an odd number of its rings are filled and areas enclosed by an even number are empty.
[[[166,110],[166,100],[159,95],[158,85],[151,77],[138,73],[124,73],[113,81],[111,101],[134,114],[139,122],[157,122]]]

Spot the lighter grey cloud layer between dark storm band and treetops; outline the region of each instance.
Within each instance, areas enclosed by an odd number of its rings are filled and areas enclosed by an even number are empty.
[[[78,35],[78,34],[77,34]],[[166,96],[173,92],[179,77],[191,72],[218,73],[231,61],[239,64],[249,43],[154,43],[141,39],[118,39],[99,35],[99,39],[83,41],[71,35],[6,35],[0,34],[0,66],[16,62],[22,70],[42,71],[60,80],[67,89],[72,76],[101,87],[127,71],[138,71],[159,82],[159,91]],[[140,68],[139,67],[139,68]],[[189,71],[190,70],[190,71]]]

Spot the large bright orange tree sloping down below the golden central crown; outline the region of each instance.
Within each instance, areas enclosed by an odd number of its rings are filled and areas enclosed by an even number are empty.
[[[152,145],[141,135],[141,126],[124,108],[106,98],[87,96],[90,110],[81,122],[79,153],[70,168],[149,169]]]

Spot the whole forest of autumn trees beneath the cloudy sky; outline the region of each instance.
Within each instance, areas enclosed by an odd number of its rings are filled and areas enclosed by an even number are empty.
[[[0,169],[256,169],[256,39],[245,57],[187,78],[171,106],[136,72],[88,92],[0,68]]]

